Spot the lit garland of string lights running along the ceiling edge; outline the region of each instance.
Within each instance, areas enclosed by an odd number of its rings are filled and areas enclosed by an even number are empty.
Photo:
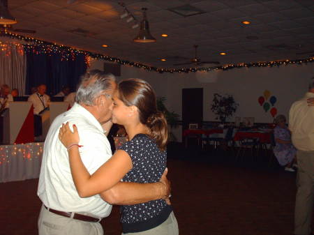
[[[89,56],[93,59],[102,59],[104,61],[110,61],[114,63],[119,63],[123,66],[132,66],[135,68],[142,68],[144,70],[155,71],[158,73],[195,73],[195,72],[210,72],[214,70],[230,70],[233,68],[251,68],[251,67],[273,67],[273,66],[287,66],[288,64],[298,64],[302,63],[313,63],[314,57],[307,59],[287,59],[285,61],[267,61],[267,62],[252,62],[252,63],[238,63],[238,64],[227,64],[224,66],[214,66],[214,67],[202,67],[202,68],[157,68],[154,66],[147,66],[142,63],[137,63],[133,61],[125,61],[111,56],[105,56],[103,54],[96,54],[93,52],[88,52],[84,50],[77,50],[73,47],[68,47],[64,45],[57,45],[56,43],[50,43],[44,40],[39,40],[36,38],[29,38],[27,36],[18,35],[15,33],[4,32],[0,36],[6,36],[9,38],[16,38],[19,40],[24,40],[28,43],[33,43],[33,45],[24,45],[25,52],[33,52],[35,54],[61,54],[62,61],[68,61],[69,59],[75,60],[75,56],[79,54],[84,54],[84,56]],[[89,59],[85,59],[85,63],[89,66]]]

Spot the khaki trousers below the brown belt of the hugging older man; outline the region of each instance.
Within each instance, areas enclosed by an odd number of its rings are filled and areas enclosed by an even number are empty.
[[[56,215],[42,206],[38,218],[39,235],[103,235],[99,222],[85,222]]]

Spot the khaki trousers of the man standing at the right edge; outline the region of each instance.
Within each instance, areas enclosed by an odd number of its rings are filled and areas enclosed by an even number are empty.
[[[297,197],[294,211],[294,234],[311,234],[313,215],[314,151],[297,151]]]

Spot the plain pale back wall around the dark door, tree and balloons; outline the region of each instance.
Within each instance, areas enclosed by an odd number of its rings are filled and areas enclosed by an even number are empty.
[[[91,68],[103,70],[103,61],[91,60]],[[278,114],[288,115],[290,106],[301,98],[310,79],[314,76],[314,63],[308,65],[288,65],[274,68],[234,68],[227,71],[209,73],[155,73],[146,70],[121,66],[121,77],[126,79],[137,77],[147,80],[155,89],[157,96],[165,96],[166,106],[170,111],[181,115],[181,90],[184,88],[204,89],[204,121],[216,121],[210,106],[214,93],[231,94],[239,103],[234,116],[253,116],[255,122],[273,122],[269,112],[264,112],[257,103],[257,98],[263,96],[268,89],[276,96],[274,105]],[[118,80],[119,80],[118,79]],[[195,104],[197,105],[197,104]],[[234,117],[227,121],[234,121]],[[175,131],[177,139],[181,140],[181,129]]]

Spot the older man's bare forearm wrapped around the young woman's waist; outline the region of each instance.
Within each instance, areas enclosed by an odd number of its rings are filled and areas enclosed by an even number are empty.
[[[167,199],[170,195],[170,181],[167,169],[158,183],[119,182],[110,190],[100,193],[100,197],[110,204],[133,205],[157,199]]]

